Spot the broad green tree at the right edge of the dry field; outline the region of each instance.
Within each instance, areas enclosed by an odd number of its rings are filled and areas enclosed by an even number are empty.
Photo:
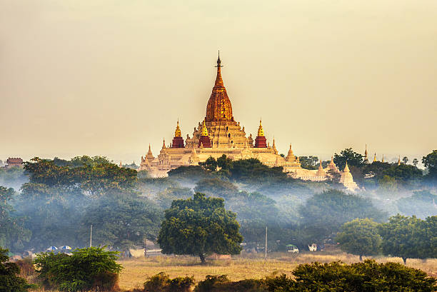
[[[428,219],[429,218],[429,219]],[[381,234],[382,251],[385,255],[400,256],[406,264],[407,258],[435,257],[437,251],[437,216],[423,221],[416,216],[400,214],[388,218],[378,229]]]

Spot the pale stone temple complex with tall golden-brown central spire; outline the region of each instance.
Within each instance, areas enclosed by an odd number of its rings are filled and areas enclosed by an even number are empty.
[[[154,157],[149,145],[146,156],[141,156],[139,171],[149,171],[151,176],[156,177],[166,176],[171,169],[179,166],[196,166],[210,156],[218,158],[224,154],[233,160],[257,158],[269,167],[282,166],[283,171],[289,176],[303,180],[325,181],[329,178],[328,171],[341,173],[332,158],[325,169],[321,164],[318,170],[301,168],[299,158],[294,155],[291,145],[287,155],[280,156],[276,150],[275,139],[271,146],[267,142],[261,121],[256,138],[253,139],[252,134],[247,136],[244,127],[241,127],[233,117],[231,101],[221,78],[221,67],[220,56],[218,56],[216,81],[206,106],[206,116],[197,127],[194,127],[192,136],[187,134],[186,139],[183,138],[178,121],[173,140],[168,145],[165,140],[163,141],[157,157]],[[350,176],[344,180],[345,186],[353,181],[351,173],[348,174]],[[349,189],[353,191],[355,188]]]

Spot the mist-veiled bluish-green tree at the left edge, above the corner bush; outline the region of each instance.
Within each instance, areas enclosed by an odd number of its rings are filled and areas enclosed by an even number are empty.
[[[24,218],[13,216],[10,202],[15,196],[13,188],[0,186],[0,246],[18,250],[29,241],[31,233],[24,228]]]

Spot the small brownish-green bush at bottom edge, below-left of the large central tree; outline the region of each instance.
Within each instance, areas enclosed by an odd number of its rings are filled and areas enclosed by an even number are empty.
[[[151,276],[144,283],[145,292],[188,292],[194,285],[194,276],[176,277],[171,279],[164,272]]]

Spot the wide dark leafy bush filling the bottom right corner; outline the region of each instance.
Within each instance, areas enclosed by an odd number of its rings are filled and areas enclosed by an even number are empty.
[[[267,277],[268,291],[436,291],[437,280],[425,272],[400,263],[363,263],[347,265],[341,262],[306,263],[297,266],[293,278],[285,274]]]

